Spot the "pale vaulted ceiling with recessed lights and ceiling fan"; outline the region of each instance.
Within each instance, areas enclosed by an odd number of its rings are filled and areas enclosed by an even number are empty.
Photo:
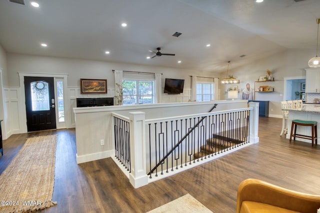
[[[320,17],[320,0],[36,1],[38,8],[0,0],[6,52],[213,72],[225,71],[228,60],[234,68],[286,48],[315,56]],[[175,56],[146,59],[156,47]]]

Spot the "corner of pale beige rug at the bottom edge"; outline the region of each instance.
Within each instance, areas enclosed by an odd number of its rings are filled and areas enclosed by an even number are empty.
[[[186,194],[148,213],[212,213],[195,198]]]

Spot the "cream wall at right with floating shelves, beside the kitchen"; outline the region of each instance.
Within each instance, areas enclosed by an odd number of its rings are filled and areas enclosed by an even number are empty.
[[[220,85],[220,97],[225,98],[225,90],[227,86],[238,85],[243,89],[245,83],[250,83],[251,87],[259,87],[267,85],[274,87],[272,93],[255,92],[255,100],[269,100],[269,117],[281,117],[280,102],[283,100],[283,78],[294,76],[305,76],[304,68],[308,67],[308,61],[314,56],[314,50],[287,50],[278,54],[272,55],[261,60],[257,60],[252,64],[229,68],[228,73],[240,80],[240,84]],[[271,70],[274,82],[255,83],[259,76],[267,75],[266,70]],[[226,72],[220,73],[220,78],[225,78]]]

